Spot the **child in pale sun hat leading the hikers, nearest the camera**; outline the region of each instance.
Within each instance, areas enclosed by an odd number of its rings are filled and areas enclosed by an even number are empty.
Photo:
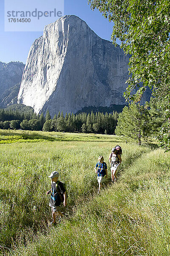
[[[46,192],[46,195],[51,193],[51,198],[49,206],[51,207],[52,222],[51,225],[56,224],[56,217],[59,216],[59,220],[63,217],[62,213],[59,211],[59,206],[63,201],[63,205],[67,204],[66,190],[63,183],[58,180],[59,173],[54,171],[48,176],[51,178],[51,189]]]

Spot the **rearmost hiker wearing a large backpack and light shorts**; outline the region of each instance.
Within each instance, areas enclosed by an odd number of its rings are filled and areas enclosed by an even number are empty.
[[[122,163],[121,154],[122,148],[119,145],[116,145],[115,148],[112,148],[111,154],[109,155],[112,182],[116,181],[116,172],[119,170],[119,165]]]

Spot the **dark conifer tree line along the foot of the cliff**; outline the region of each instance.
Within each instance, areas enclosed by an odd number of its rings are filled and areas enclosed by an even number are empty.
[[[97,134],[114,134],[119,114],[113,113],[66,113],[59,112],[51,119],[47,110],[45,116],[33,111],[21,112],[0,109],[0,129],[22,129],[31,131],[64,131]]]

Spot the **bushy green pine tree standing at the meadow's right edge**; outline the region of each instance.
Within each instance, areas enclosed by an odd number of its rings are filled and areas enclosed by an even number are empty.
[[[145,106],[131,103],[119,114],[115,133],[141,145],[142,139],[147,140],[157,134],[161,123],[161,113],[156,105],[148,102]]]

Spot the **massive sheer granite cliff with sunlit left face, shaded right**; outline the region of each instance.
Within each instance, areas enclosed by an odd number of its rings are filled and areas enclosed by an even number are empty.
[[[128,60],[79,17],[67,15],[45,26],[31,46],[18,103],[36,113],[77,112],[88,106],[125,104]]]

